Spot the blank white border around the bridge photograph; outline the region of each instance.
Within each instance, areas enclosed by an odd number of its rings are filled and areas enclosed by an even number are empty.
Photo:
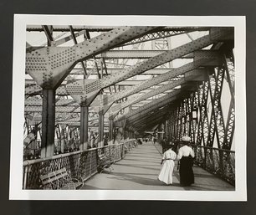
[[[11,200],[166,200],[247,201],[246,84],[244,16],[95,16],[14,14],[13,102],[9,199]],[[27,25],[192,26],[235,29],[235,191],[23,190],[23,113]],[[238,153],[239,152],[239,153]]]

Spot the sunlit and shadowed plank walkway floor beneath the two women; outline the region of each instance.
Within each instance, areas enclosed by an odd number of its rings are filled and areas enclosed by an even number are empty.
[[[105,190],[193,190],[234,191],[235,188],[223,180],[193,166],[195,183],[191,187],[180,187],[177,165],[173,173],[173,184],[165,185],[157,180],[161,170],[161,146],[152,142],[136,146],[121,161],[113,164],[114,170],[96,174],[84,182],[81,189]]]

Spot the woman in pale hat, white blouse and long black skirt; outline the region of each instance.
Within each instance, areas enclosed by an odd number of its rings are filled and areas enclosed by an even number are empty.
[[[190,142],[189,136],[183,136],[182,142],[185,146],[182,146],[178,151],[177,159],[180,159],[180,183],[182,186],[190,186],[194,183],[194,173],[192,169],[194,151],[191,147],[187,146]]]

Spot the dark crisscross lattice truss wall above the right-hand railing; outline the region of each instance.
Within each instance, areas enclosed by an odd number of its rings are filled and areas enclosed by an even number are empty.
[[[223,57],[222,66],[209,68],[207,80],[198,90],[182,100],[167,122],[168,136],[172,141],[181,141],[182,136],[191,136],[200,146],[233,149],[234,63],[233,56]]]

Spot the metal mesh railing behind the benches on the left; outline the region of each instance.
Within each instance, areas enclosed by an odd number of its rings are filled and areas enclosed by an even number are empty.
[[[136,144],[136,141],[132,139],[120,144],[86,151],[74,151],[37,160],[23,161],[23,189],[41,189],[41,175],[64,167],[71,177],[82,178],[85,181],[97,173],[99,155],[104,154],[111,162],[120,161],[125,156],[125,148],[130,151]]]

